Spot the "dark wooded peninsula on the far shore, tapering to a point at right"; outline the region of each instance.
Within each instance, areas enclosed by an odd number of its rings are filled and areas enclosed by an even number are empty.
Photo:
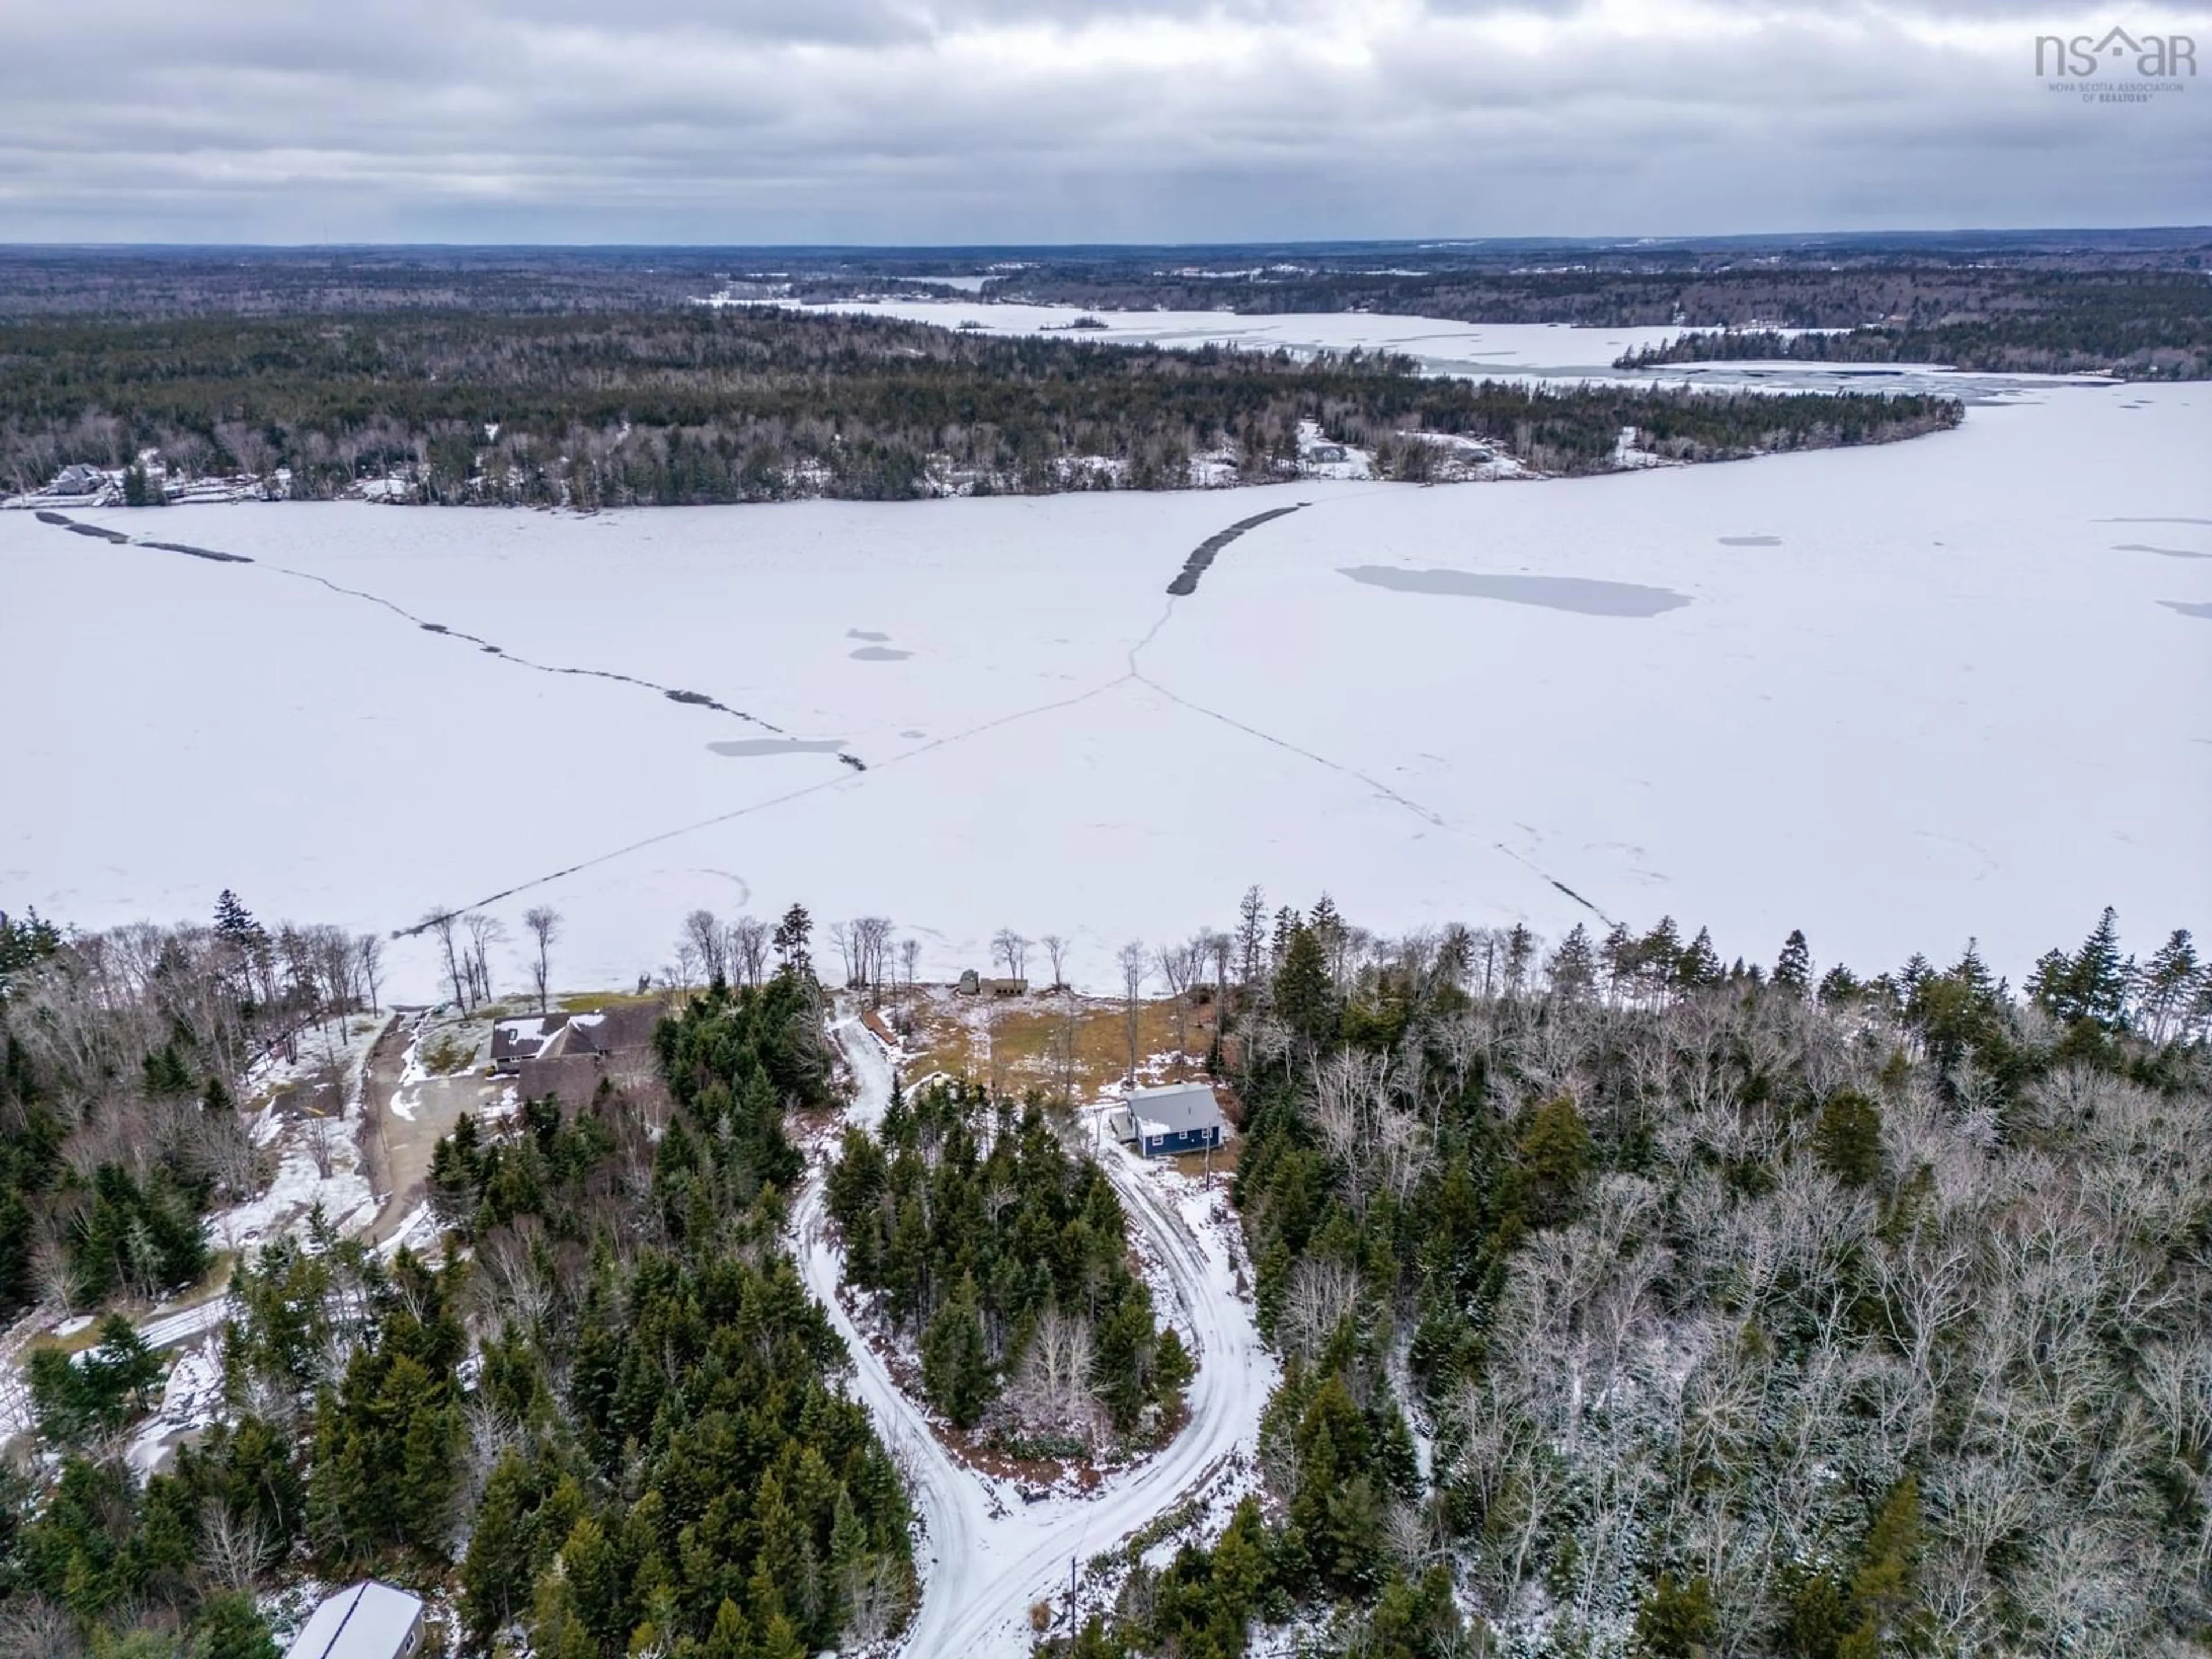
[[[1938,398],[1750,398],[1526,387],[1387,354],[987,338],[872,316],[633,314],[49,319],[0,325],[0,480],[60,467],[248,473],[294,498],[398,480],[482,504],[900,500],[947,489],[1179,489],[1192,456],[1296,471],[1298,422],[1438,469],[1398,434],[1478,438],[1542,471],[1601,471],[1621,427],[1681,460],[1885,442],[1958,420]],[[1113,462],[1097,467],[1097,460]]]

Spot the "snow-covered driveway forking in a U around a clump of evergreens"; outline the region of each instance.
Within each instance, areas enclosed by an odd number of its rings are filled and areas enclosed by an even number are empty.
[[[874,1126],[891,1097],[891,1066],[856,1018],[841,1018],[832,1037],[858,1079],[852,1121]],[[911,1659],[1026,1655],[1035,1641],[1029,1608],[1066,1588],[1071,1559],[1088,1559],[1175,1509],[1223,1473],[1234,1453],[1250,1455],[1259,1436],[1276,1367],[1250,1307],[1234,1294],[1234,1245],[1214,1228],[1194,1234],[1135,1157],[1113,1148],[1102,1166],[1166,1267],[1181,1303],[1179,1323],[1197,1338],[1199,1374],[1188,1394],[1190,1422],[1175,1442],[1082,1500],[1024,1504],[1013,1482],[967,1469],[938,1444],[929,1420],[900,1394],[838,1301],[841,1252],[823,1214],[825,1164],[810,1172],[794,1206],[807,1290],[852,1349],[854,1394],[900,1460],[922,1517],[922,1606],[902,1644]]]

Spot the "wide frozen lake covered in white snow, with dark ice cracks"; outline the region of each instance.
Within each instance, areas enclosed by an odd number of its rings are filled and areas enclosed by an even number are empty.
[[[1106,984],[1261,883],[1376,929],[1805,927],[1860,969],[1980,936],[2017,975],[2106,902],[2139,945],[2212,925],[2208,438],[2212,387],[2042,385],[1535,484],[80,513],[254,564],[0,513],[0,902],[234,887],[367,931],[498,896],[518,940],[549,902],[555,980],[619,984],[692,907],[801,898],[925,975],[1015,927]]]

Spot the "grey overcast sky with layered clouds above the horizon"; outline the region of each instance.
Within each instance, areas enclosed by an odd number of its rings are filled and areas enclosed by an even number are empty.
[[[2212,221],[2212,75],[1995,0],[15,0],[9,241],[1232,241]],[[2130,80],[2121,75],[2119,80]]]

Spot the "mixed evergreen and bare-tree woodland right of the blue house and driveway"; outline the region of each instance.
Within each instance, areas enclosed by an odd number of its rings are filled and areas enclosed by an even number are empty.
[[[2022,995],[1971,947],[1860,980],[1254,894],[1237,958],[1265,1502],[1055,1650],[2199,1650],[2185,933],[2106,914]]]

